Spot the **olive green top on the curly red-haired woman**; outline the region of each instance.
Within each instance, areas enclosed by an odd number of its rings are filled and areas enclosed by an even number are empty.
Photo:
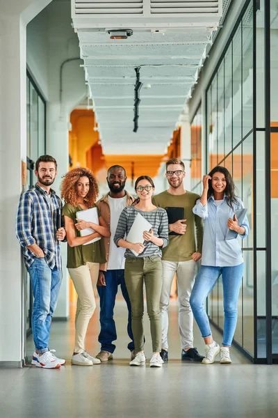
[[[97,206],[95,205],[97,208]],[[70,203],[65,203],[63,207],[63,215],[70,217],[76,224],[76,212],[83,210],[81,206],[72,206]],[[97,209],[98,215],[99,210]],[[80,231],[75,229],[76,237],[80,237]],[[76,268],[86,263],[106,263],[104,244],[101,240],[92,242],[88,245],[78,245],[77,247],[70,247],[67,244],[67,268]]]

